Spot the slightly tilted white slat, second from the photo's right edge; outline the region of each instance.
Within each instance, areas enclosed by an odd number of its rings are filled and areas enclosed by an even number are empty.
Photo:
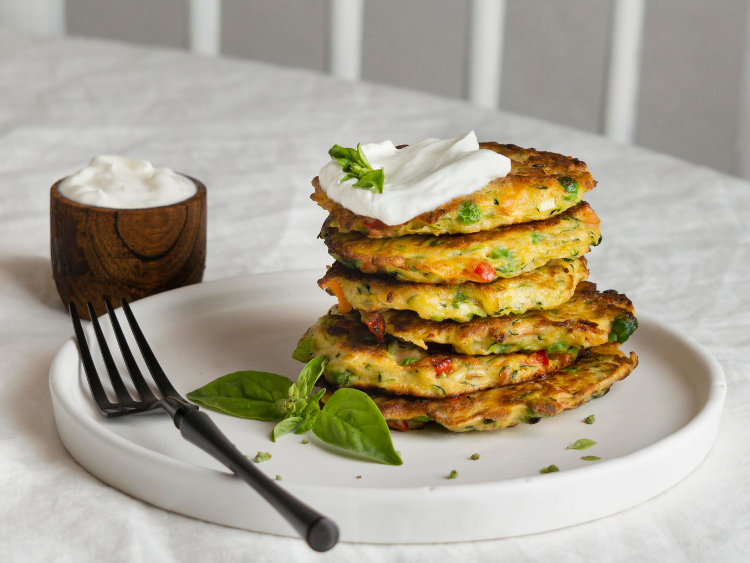
[[[638,110],[645,0],[616,0],[604,133],[632,143]]]

